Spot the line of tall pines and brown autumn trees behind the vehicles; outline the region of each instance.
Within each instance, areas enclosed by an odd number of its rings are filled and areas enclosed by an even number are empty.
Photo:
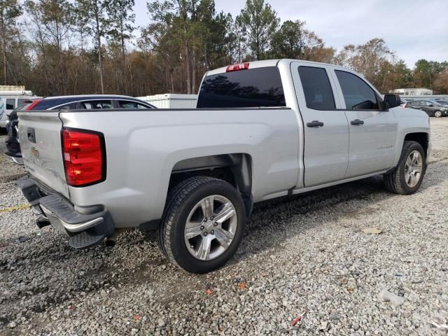
[[[381,92],[448,93],[448,62],[409,69],[381,38],[336,50],[305,22],[281,22],[264,0],[246,0],[235,18],[214,0],[150,0],[144,27],[133,8],[134,0],[1,0],[0,83],[43,96],[195,93],[209,69],[293,58],[348,66]]]

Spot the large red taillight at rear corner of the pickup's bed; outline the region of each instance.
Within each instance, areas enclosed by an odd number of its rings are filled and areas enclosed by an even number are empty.
[[[102,133],[64,128],[62,154],[69,186],[90,186],[106,179],[106,146]]]

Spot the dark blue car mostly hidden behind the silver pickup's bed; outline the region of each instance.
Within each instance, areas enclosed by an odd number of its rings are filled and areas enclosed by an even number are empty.
[[[10,160],[22,164],[22,153],[20,152],[20,142],[18,139],[19,120],[18,111],[29,110],[82,110],[82,109],[155,109],[155,106],[128,96],[116,95],[97,95],[87,94],[82,96],[62,96],[47,97],[42,99],[29,100],[12,111],[8,116],[6,130],[8,138],[6,139],[5,155]]]

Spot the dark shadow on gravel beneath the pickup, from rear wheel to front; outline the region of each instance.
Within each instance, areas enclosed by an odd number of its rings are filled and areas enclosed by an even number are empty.
[[[447,166],[447,160],[430,165],[417,193],[424,193],[428,188],[448,179],[445,174],[438,173],[442,167],[446,169]],[[367,227],[367,223],[363,223],[363,216],[378,211],[372,208],[378,207],[377,203],[393,197],[412,197],[412,195],[388,193],[384,188],[382,176],[374,176],[255,204],[239,251],[228,265],[269,248],[282,246],[285,239],[306,235],[307,230],[325,225],[319,218],[325,218],[327,222],[349,216],[356,218],[360,225]],[[352,201],[356,201],[356,204]]]

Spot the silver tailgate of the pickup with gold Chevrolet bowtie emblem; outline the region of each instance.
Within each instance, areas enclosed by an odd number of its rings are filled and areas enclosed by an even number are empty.
[[[18,116],[25,169],[38,181],[69,198],[62,160],[59,111],[27,111]]]

